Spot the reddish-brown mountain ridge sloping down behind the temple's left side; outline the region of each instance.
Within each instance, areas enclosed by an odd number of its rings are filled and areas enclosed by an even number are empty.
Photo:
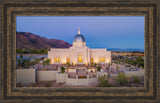
[[[17,49],[69,48],[71,46],[63,40],[47,39],[29,32],[16,32]]]

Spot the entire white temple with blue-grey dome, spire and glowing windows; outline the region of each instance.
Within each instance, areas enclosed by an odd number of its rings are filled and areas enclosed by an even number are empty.
[[[111,62],[111,51],[104,49],[90,49],[86,46],[84,36],[80,33],[74,37],[73,45],[70,48],[51,48],[48,51],[48,58],[51,64],[93,64]]]

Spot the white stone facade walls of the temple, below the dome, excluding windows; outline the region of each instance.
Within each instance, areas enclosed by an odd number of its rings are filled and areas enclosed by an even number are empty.
[[[72,46],[70,48],[52,48],[51,51],[48,51],[48,58],[51,59],[51,63],[54,62],[54,58],[60,58],[60,63],[67,63],[67,58],[70,59],[70,63],[78,64],[78,55],[82,55],[83,62],[82,64],[90,63],[91,58],[93,58],[94,63],[101,63],[99,59],[105,57],[105,62],[111,62],[111,51],[106,49],[90,49],[87,46],[76,47]]]

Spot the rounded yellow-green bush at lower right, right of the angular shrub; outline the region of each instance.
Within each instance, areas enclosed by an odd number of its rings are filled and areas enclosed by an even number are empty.
[[[118,84],[125,85],[128,84],[128,77],[124,73],[119,73],[116,77],[116,81]]]

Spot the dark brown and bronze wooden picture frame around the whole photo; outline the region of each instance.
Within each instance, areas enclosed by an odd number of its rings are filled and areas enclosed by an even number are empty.
[[[0,1],[2,103],[160,102],[160,2],[158,0]],[[16,16],[145,16],[144,87],[16,87]]]

